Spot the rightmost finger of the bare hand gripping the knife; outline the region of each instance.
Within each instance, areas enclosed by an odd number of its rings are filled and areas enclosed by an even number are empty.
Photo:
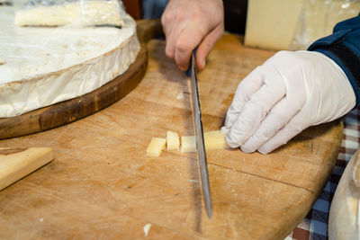
[[[196,51],[196,66],[199,70],[202,70],[205,67],[206,58],[210,54],[215,42],[220,39],[223,31],[222,25],[216,27],[200,43]]]

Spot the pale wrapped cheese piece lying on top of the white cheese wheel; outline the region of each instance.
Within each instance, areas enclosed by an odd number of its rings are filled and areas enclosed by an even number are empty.
[[[76,22],[85,26],[121,27],[124,24],[117,0],[37,6],[16,11],[14,22],[17,26],[62,26]]]

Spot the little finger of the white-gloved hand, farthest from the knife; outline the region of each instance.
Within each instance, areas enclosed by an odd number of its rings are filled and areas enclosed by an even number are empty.
[[[306,125],[306,117],[302,114],[301,111],[289,123],[284,127],[284,129],[279,130],[273,138],[270,138],[263,146],[258,148],[258,152],[262,154],[268,154],[275,150],[277,147],[280,147],[286,144],[290,139],[302,132],[303,129],[308,128]]]

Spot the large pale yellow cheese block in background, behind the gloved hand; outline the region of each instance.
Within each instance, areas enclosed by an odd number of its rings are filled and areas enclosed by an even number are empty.
[[[328,36],[337,22],[359,11],[359,1],[249,0],[245,45],[307,49],[313,41]]]

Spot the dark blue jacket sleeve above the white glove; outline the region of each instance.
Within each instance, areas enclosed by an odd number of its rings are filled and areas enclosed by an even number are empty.
[[[343,69],[360,105],[360,15],[338,22],[333,34],[316,40],[308,50],[318,51],[333,59]]]

